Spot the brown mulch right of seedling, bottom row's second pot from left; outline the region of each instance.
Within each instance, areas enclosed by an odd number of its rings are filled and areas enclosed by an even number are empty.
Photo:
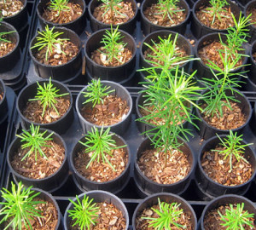
[[[113,204],[97,203],[99,207],[97,223],[90,225],[90,230],[125,230],[126,221],[121,210]],[[71,222],[71,225],[73,221]],[[71,230],[80,230],[80,227],[70,227]]]

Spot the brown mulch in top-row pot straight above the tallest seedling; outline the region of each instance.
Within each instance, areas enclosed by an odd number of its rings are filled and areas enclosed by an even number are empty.
[[[178,24],[181,24],[186,19],[187,14],[184,9],[181,9],[179,7],[173,10],[180,10],[180,11],[172,14],[172,20],[170,20],[167,15],[164,17],[164,13],[162,13],[162,10],[160,9],[159,4],[152,4],[150,7],[148,7],[143,11],[143,14],[154,25],[166,26],[166,27],[177,26]]]

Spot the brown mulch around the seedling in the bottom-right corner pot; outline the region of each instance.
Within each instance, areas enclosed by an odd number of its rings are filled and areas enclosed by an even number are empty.
[[[233,208],[236,210],[236,204],[233,205]],[[218,215],[218,210],[222,215],[225,215],[226,209],[230,210],[230,205],[221,205],[217,209],[210,210],[205,218],[204,218],[204,227],[206,230],[212,230],[212,229],[219,229],[219,230],[225,230],[227,227],[222,226],[221,224],[224,223],[224,221],[221,221],[221,217]],[[245,210],[242,211],[244,213]],[[253,228],[243,225],[244,230],[255,230],[256,226],[254,224],[255,218],[250,218],[249,221],[253,221]]]

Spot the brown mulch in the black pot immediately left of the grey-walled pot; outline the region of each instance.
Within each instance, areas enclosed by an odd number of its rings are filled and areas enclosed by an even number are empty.
[[[70,98],[69,95],[55,98],[57,103],[55,107],[59,114],[55,112],[53,107],[46,107],[44,117],[42,117],[44,106],[40,101],[27,101],[26,108],[22,112],[23,116],[38,124],[48,124],[59,120],[69,109]]]

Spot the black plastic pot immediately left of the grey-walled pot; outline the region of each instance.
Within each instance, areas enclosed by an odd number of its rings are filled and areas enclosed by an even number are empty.
[[[44,83],[49,83],[49,80],[42,80],[38,81],[40,85],[44,85]],[[16,108],[17,111],[20,115],[22,126],[25,129],[29,129],[29,126],[33,123],[31,120],[27,119],[23,115],[23,111],[26,108],[26,103],[34,98],[37,95],[37,90],[38,90],[38,83],[31,83],[27,85],[25,88],[23,88],[20,91],[20,94],[18,95],[17,99],[17,104]],[[73,124],[73,97],[71,95],[70,90],[67,88],[66,85],[63,83],[57,82],[55,80],[51,80],[51,83],[56,87],[56,89],[60,89],[58,91],[58,94],[64,94],[68,93],[69,94],[69,101],[70,101],[70,106],[67,110],[67,112],[57,121],[49,123],[49,124],[38,124],[38,123],[33,123],[35,125],[40,125],[41,128],[44,129],[51,129],[57,132],[58,134],[63,134],[67,132],[67,129]],[[67,95],[68,97],[68,95]]]

